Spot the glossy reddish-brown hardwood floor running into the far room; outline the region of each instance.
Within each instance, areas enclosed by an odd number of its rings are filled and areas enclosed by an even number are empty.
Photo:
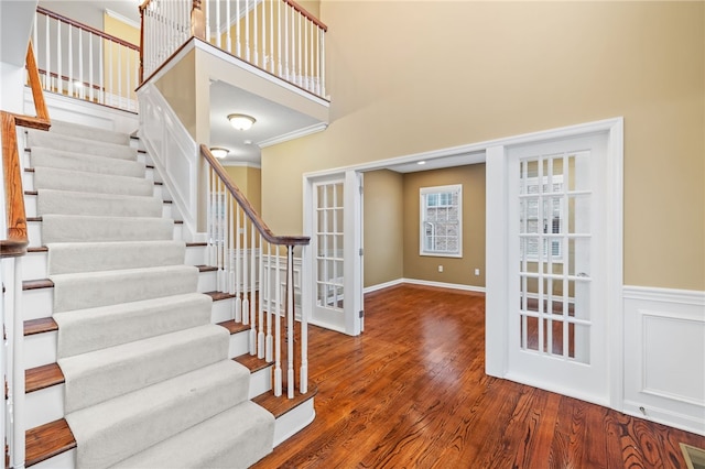
[[[485,374],[485,298],[368,294],[366,331],[312,327],[316,419],[254,468],[685,468],[705,437]]]

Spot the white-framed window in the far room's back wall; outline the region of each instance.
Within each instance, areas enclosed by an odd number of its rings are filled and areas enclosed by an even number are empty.
[[[421,255],[463,255],[463,186],[422,187]]]

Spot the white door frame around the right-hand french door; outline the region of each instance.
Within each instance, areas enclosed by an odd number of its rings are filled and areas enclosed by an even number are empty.
[[[487,148],[487,220],[486,220],[486,361],[487,374],[507,378],[509,343],[509,275],[512,272],[507,250],[506,211],[509,208],[507,146],[567,139],[594,133],[607,135],[607,177],[605,199],[609,200],[606,214],[606,252],[610,260],[607,275],[607,362],[608,395],[606,405],[621,410],[623,382],[623,325],[622,325],[622,160],[623,119],[608,119],[543,132],[503,139]]]

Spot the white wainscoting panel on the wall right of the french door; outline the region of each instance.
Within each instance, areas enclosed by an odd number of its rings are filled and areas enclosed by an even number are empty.
[[[623,411],[705,435],[705,292],[625,286]]]

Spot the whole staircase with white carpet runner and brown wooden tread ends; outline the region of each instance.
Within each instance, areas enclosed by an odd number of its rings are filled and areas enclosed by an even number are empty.
[[[307,422],[262,407],[270,369],[231,295],[208,294],[205,247],[181,240],[133,139],[52,123],[26,138],[26,466],[254,463]]]

